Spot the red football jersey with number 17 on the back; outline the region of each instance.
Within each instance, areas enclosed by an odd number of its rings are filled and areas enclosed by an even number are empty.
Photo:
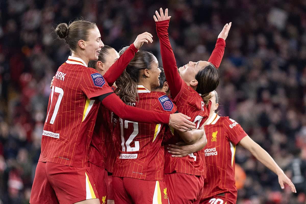
[[[102,75],[80,58],[69,56],[55,75],[39,161],[84,167],[101,104],[92,99],[110,92]]]

